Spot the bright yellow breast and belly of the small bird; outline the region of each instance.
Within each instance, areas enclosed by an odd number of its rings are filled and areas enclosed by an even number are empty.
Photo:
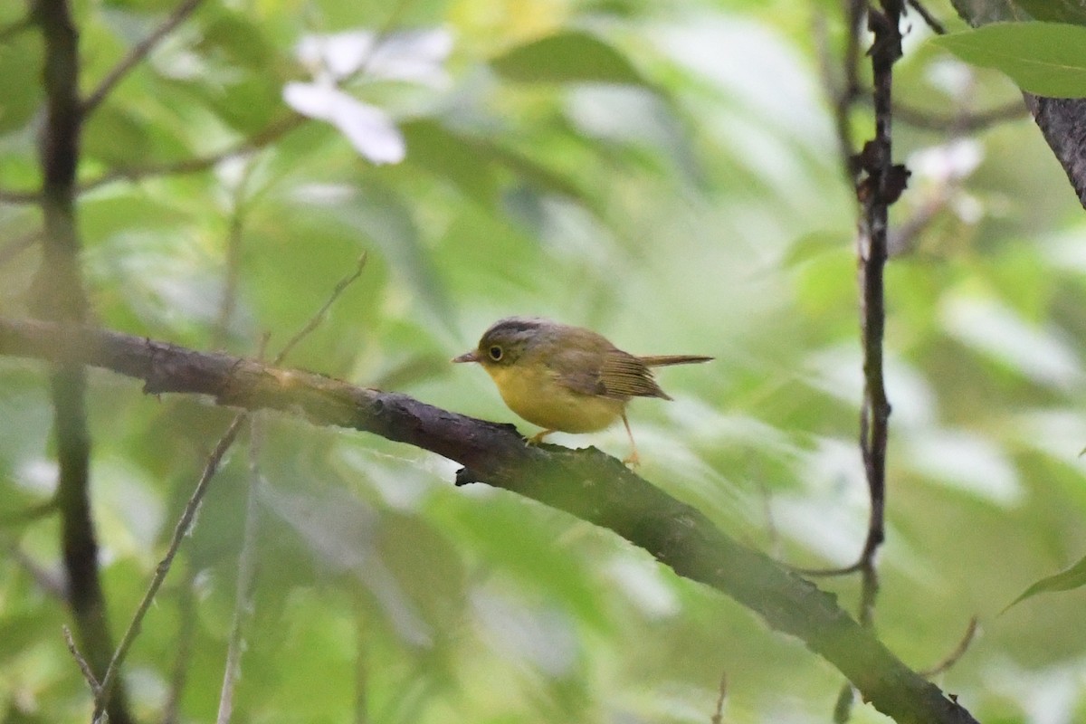
[[[487,366],[514,412],[546,430],[594,432],[618,420],[626,402],[573,392],[541,366]]]

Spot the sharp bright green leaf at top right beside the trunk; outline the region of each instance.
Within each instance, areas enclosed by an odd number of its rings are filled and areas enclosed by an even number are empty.
[[[1002,71],[1031,93],[1086,97],[1086,27],[993,23],[940,36],[933,42],[968,63]]]

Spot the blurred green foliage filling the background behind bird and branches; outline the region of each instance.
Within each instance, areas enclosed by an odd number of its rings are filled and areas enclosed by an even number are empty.
[[[4,23],[18,5],[0,8]],[[174,8],[75,5],[85,92]],[[932,9],[961,26],[949,5]],[[92,318],[247,355],[267,332],[274,353],[366,252],[362,279],[289,364],[516,421],[482,372],[446,364],[501,316],[586,325],[636,353],[716,355],[664,372],[675,402],[632,405],[643,474],[785,561],[850,563],[867,488],[856,208],[822,78],[839,74],[836,12],[797,0],[206,0],[84,126]],[[895,97],[946,123],[895,125],[913,175],[893,228],[926,223],[895,238],[887,272],[877,631],[922,669],[976,615],[984,635],[938,683],[982,721],[1077,721],[1086,594],[999,613],[1086,550],[1086,226],[1024,113],[956,130],[960,114],[1019,91],[925,43],[914,15],[909,27]],[[337,79],[399,127],[403,163],[369,163],[281,100],[285,84],[327,71],[301,58],[306,36],[368,30],[381,47],[427,28],[452,41],[438,68],[375,53]],[[0,42],[7,317],[28,314],[38,263],[36,247],[15,246],[38,211],[10,194],[39,182],[41,52],[34,28]],[[870,135],[869,111],[850,123]],[[249,152],[224,154],[238,148]],[[218,154],[200,170],[171,167]],[[27,512],[55,478],[46,377],[0,360],[0,716],[11,722],[90,710],[50,587],[62,575],[56,521]],[[116,632],[230,416],[90,379]],[[828,664],[615,536],[500,491],[456,490],[452,463],[409,447],[286,416],[263,427],[238,721],[706,722],[723,673],[727,722],[830,715],[841,682]],[[626,452],[621,429],[555,442]],[[214,482],[128,661],[141,721],[161,717],[178,666],[177,721],[215,715],[244,450]],[[820,584],[856,600],[853,579]],[[883,720],[857,706],[854,721]]]

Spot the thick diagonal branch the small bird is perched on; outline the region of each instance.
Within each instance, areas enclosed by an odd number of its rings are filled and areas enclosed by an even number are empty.
[[[407,395],[78,326],[0,319],[0,355],[101,367],[143,380],[149,394],[210,395],[219,405],[280,410],[431,450],[465,466],[459,484],[484,482],[607,528],[680,575],[727,594],[803,639],[864,700],[901,724],[976,721],[857,624],[834,596],[740,545],[698,510],[598,450],[527,446],[512,425]]]

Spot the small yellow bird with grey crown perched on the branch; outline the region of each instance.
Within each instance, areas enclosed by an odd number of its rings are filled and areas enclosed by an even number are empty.
[[[602,334],[540,317],[507,317],[491,325],[479,345],[454,363],[479,363],[493,378],[502,399],[514,412],[543,431],[595,432],[619,418],[630,436],[626,406],[631,397],[671,399],[653,379],[653,367],[709,361],[699,355],[637,357],[622,352]]]

